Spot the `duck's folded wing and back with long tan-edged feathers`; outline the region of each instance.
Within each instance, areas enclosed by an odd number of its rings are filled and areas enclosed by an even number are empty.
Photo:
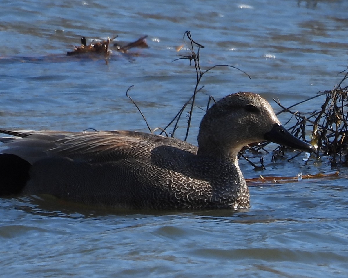
[[[33,164],[47,157],[67,157],[78,161],[106,162],[146,158],[158,146],[172,146],[196,153],[197,147],[160,135],[133,131],[61,132],[0,130],[15,137],[0,137],[6,150]]]

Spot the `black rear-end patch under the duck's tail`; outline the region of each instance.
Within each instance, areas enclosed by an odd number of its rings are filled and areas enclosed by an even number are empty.
[[[29,179],[28,161],[15,154],[0,154],[0,196],[20,194]]]

